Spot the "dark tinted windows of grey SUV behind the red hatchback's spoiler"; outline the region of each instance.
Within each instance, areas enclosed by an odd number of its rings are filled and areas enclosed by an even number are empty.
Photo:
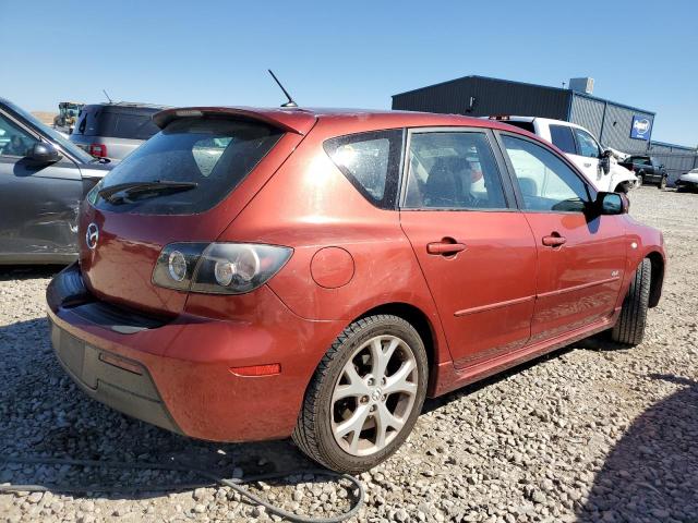
[[[159,109],[88,107],[80,113],[73,134],[109,138],[148,139],[159,131],[152,117]]]

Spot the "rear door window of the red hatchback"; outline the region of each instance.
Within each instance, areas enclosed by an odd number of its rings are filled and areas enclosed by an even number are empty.
[[[402,208],[506,209],[488,136],[482,132],[412,134]]]

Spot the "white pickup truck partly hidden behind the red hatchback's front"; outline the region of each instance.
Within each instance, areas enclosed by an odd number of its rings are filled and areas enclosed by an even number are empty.
[[[637,177],[617,162],[617,153],[603,148],[585,127],[563,120],[537,117],[490,117],[546,139],[569,158],[598,191],[627,193]]]

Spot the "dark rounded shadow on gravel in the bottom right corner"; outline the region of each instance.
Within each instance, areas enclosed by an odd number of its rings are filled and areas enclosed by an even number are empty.
[[[698,381],[649,378],[682,388],[633,422],[597,474],[580,523],[698,522]]]

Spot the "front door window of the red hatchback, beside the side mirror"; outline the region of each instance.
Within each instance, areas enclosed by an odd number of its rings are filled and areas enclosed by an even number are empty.
[[[528,210],[578,211],[589,202],[587,184],[551,150],[527,139],[503,135],[524,207]]]

